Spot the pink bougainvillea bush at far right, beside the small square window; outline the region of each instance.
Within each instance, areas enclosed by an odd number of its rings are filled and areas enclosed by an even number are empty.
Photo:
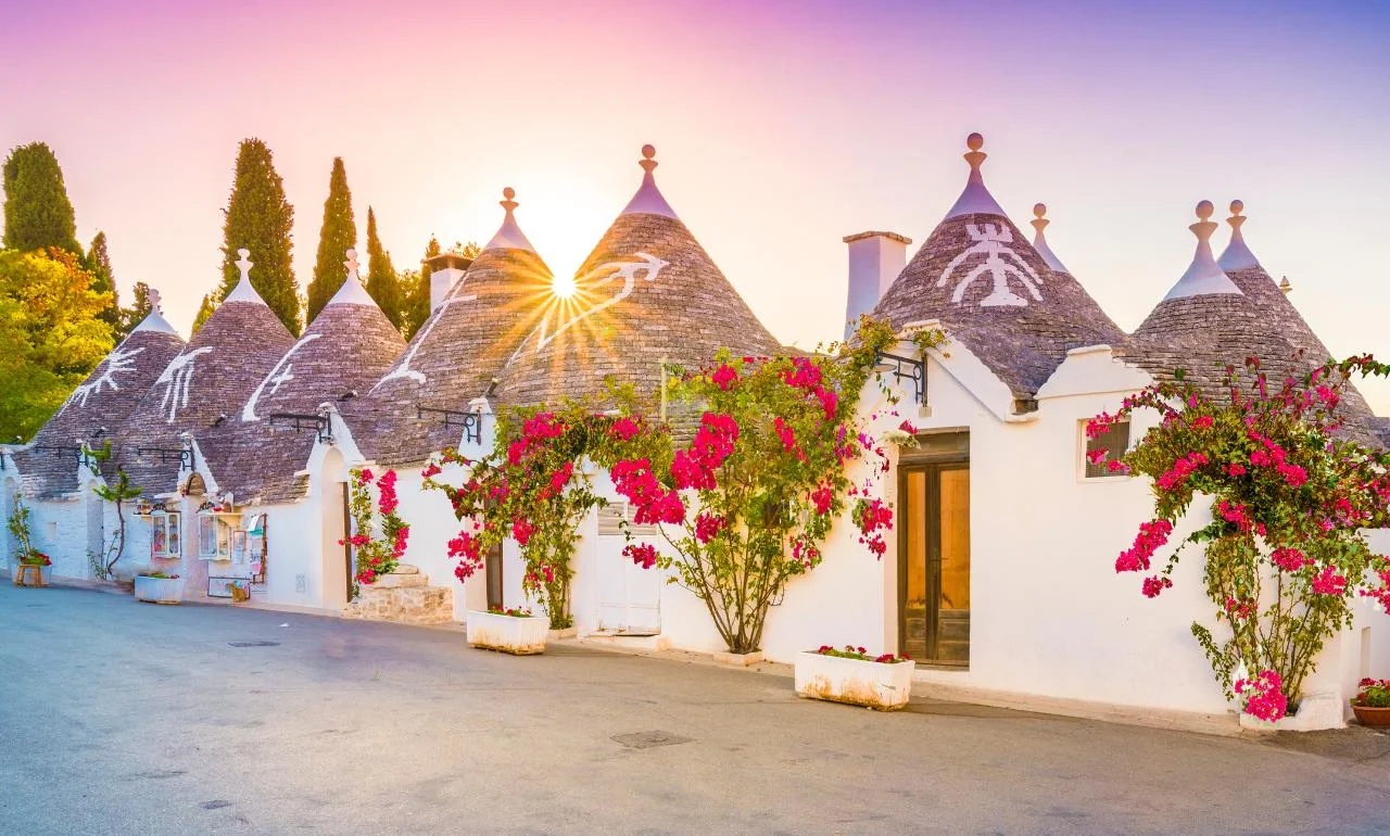
[[[1095,436],[1133,412],[1159,414],[1109,464],[1152,479],[1155,499],[1154,518],[1115,571],[1150,572],[1191,504],[1209,504],[1212,522],[1179,543],[1143,592],[1158,597],[1172,587],[1187,546],[1204,551],[1216,626],[1193,624],[1193,635],[1226,696],[1261,719],[1297,710],[1318,651],[1351,624],[1352,601],[1371,597],[1390,611],[1390,560],[1371,551],[1362,530],[1390,525],[1390,454],[1343,424],[1354,375],[1386,376],[1390,367],[1358,357],[1272,383],[1250,358],[1226,369],[1220,397],[1177,374],[1087,426]]]

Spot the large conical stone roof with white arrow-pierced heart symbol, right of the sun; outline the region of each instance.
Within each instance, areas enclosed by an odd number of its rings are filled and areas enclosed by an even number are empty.
[[[720,349],[769,356],[780,346],[656,187],[642,185],[580,267],[570,297],[545,300],[498,393],[510,404],[600,396],[605,381],[655,392],[662,362],[696,367]]]

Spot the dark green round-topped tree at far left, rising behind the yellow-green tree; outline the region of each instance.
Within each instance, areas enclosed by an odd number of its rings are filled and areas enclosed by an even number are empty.
[[[4,161],[4,246],[82,254],[63,169],[46,143],[19,146]]]

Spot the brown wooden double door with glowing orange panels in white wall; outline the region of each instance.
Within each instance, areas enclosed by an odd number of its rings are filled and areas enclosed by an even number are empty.
[[[898,468],[898,646],[935,665],[970,664],[970,460],[966,433],[923,436]]]

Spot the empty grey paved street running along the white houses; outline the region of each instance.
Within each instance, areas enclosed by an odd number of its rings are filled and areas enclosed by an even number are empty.
[[[0,833],[1384,832],[1387,753],[0,583]]]

